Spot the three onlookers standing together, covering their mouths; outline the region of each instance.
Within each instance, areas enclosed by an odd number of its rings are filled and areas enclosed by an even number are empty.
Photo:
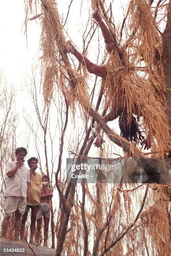
[[[28,159],[29,170],[25,167],[25,148],[17,148],[16,160],[8,162],[6,166],[7,182],[5,190],[4,219],[1,227],[1,238],[5,238],[8,230],[10,217],[15,213],[14,240],[25,240],[25,222],[31,209],[30,242],[38,245],[40,240],[40,229],[42,218],[44,220],[44,243],[47,246],[48,227],[50,220],[50,199],[53,197],[53,189],[49,188],[49,177],[36,172],[38,159]],[[35,223],[37,221],[36,235]]]

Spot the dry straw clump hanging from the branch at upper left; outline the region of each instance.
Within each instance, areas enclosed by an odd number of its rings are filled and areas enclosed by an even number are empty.
[[[56,2],[54,0],[41,2],[43,12],[40,17],[42,27],[40,49],[43,53],[41,57],[41,83],[43,84],[45,104],[48,104],[52,99],[53,91],[60,89],[68,100],[72,112],[76,108],[75,101],[78,101],[83,108],[88,110],[90,103],[87,84],[81,74],[71,68],[68,56],[64,51],[65,37]],[[36,6],[36,1],[34,3]],[[29,1],[28,6],[30,10],[33,10],[33,1]],[[28,18],[26,18],[27,20]]]

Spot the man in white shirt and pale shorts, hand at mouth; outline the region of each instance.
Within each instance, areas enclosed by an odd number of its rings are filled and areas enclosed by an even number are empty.
[[[30,182],[29,171],[24,166],[26,155],[25,148],[17,148],[15,151],[16,161],[8,162],[6,166],[5,218],[2,223],[1,238],[5,238],[10,216],[15,212],[15,241],[19,240],[18,228],[20,229],[21,215],[24,214],[27,205],[27,189],[28,182]]]

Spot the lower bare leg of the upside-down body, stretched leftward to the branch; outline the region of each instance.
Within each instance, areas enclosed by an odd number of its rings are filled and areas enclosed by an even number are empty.
[[[95,74],[98,77],[104,77],[106,75],[106,65],[96,65],[93,62],[89,61],[87,57],[85,57],[83,54],[75,49],[71,41],[66,42],[65,52],[71,52],[78,59],[80,64],[87,68],[89,73]]]

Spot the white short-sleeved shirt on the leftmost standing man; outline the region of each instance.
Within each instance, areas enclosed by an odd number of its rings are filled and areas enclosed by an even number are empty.
[[[6,166],[6,174],[11,171],[15,166],[17,161],[8,162]],[[30,182],[29,170],[22,165],[18,167],[17,172],[15,172],[14,176],[8,178],[6,183],[6,191],[5,197],[27,197],[27,182]]]

